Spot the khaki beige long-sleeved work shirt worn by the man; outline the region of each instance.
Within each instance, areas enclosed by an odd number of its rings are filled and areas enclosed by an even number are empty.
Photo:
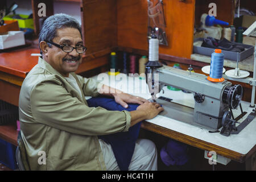
[[[40,57],[23,81],[19,96],[20,134],[32,170],[105,170],[97,135],[128,131],[130,127],[128,111],[88,107],[84,97],[97,96],[100,83],[71,74],[82,98]]]

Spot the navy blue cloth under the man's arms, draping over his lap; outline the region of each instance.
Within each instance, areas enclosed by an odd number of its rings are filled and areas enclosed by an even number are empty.
[[[103,107],[107,110],[136,110],[138,104],[128,104],[129,107],[125,108],[115,102],[114,98],[109,97],[92,97],[87,100],[89,107]],[[141,122],[130,127],[127,132],[119,132],[110,135],[101,135],[98,138],[103,139],[106,143],[112,146],[115,159],[120,170],[127,171],[133,156],[135,142],[139,135],[139,129],[141,128]]]

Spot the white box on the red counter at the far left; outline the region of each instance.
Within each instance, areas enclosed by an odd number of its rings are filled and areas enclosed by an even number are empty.
[[[0,49],[22,46],[25,44],[23,31],[9,31],[6,35],[0,35]]]

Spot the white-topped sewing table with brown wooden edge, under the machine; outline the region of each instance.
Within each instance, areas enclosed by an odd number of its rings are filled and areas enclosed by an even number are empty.
[[[146,81],[140,80],[138,77],[127,77],[120,73],[112,78],[106,75],[98,75],[93,78],[135,96],[145,99],[151,97],[148,91],[145,92],[146,90],[142,89],[147,88]],[[166,86],[163,89],[164,94],[161,92],[159,96],[172,98],[172,102],[176,102],[177,104],[194,107],[195,101],[192,93],[187,94],[181,90],[168,90]],[[249,107],[249,102],[242,101],[241,104],[243,111],[247,111],[247,114],[252,111],[252,108]],[[240,114],[239,112],[240,110],[233,110],[235,117]],[[246,117],[247,115],[240,122]],[[229,137],[225,137],[220,133],[209,133],[206,129],[201,129],[200,127],[192,126],[188,123],[162,115],[157,115],[153,119],[143,121],[142,128],[200,148],[201,150],[214,151],[218,155],[240,163],[246,162],[248,164],[246,164],[248,166],[247,169],[250,169],[251,158],[255,158],[256,156],[256,118],[240,134],[230,135]]]

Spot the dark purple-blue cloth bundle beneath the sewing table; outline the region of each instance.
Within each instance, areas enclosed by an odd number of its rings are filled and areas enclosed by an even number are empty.
[[[188,162],[187,144],[170,139],[160,151],[160,158],[166,166],[182,166]]]

